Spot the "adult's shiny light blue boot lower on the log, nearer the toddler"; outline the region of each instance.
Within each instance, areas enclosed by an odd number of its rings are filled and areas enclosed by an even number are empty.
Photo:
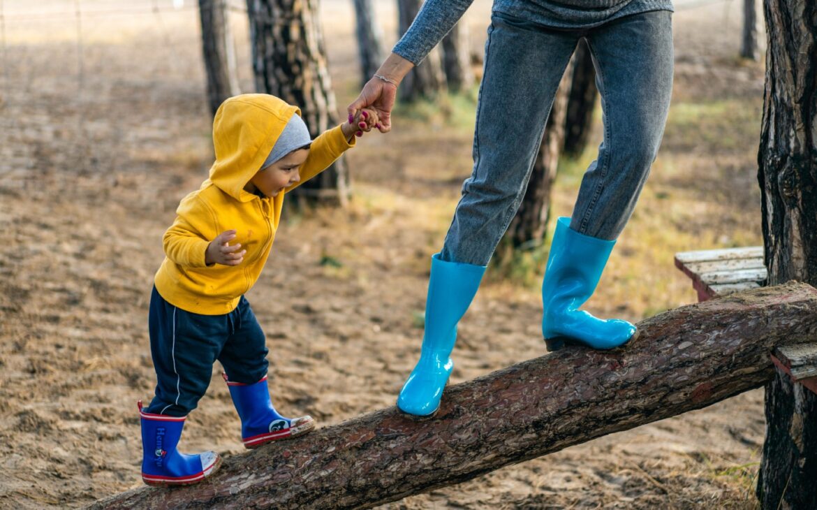
[[[457,340],[457,323],[480,287],[485,266],[444,262],[431,257],[431,277],[426,297],[426,328],[417,366],[397,398],[397,407],[415,416],[431,416],[440,407],[443,388],[454,367],[451,351]]]

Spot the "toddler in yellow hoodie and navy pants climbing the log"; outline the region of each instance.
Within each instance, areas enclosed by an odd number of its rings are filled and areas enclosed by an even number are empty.
[[[378,123],[373,110],[364,110],[313,141],[300,114],[266,94],[225,101],[213,121],[216,162],[210,177],[181,200],[164,234],[166,257],[154,278],[149,317],[158,382],[150,405],[142,409],[139,402],[142,480],[148,485],[195,483],[221,463],[212,451],[176,450],[216,360],[241,418],[244,446],[315,428],[310,416],[285,418],[272,405],[266,338],[243,294],[270,255],[283,197]]]

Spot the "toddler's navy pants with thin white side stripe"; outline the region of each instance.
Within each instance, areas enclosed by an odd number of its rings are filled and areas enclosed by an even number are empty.
[[[219,360],[230,382],[252,384],[266,376],[266,338],[246,297],[224,315],[201,315],[150,295],[150,354],[156,396],[145,412],[185,416],[196,408]]]

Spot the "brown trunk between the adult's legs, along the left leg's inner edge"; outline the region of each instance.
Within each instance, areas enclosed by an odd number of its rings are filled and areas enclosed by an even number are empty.
[[[500,249],[495,254],[498,261],[511,256],[516,248],[538,246],[545,238],[551,214],[551,190],[553,181],[556,180],[561,147],[565,142],[565,113],[573,76],[572,66],[573,64],[568,65],[559,83],[551,113],[547,117],[542,143],[534,159],[534,169],[530,172],[525,197],[505,232],[503,245],[506,249]]]

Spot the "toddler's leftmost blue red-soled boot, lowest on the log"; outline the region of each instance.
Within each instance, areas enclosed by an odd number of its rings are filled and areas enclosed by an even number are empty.
[[[142,481],[147,485],[190,485],[212,475],[221,457],[212,451],[185,455],[176,450],[185,427],[185,416],[167,416],[142,411]]]

